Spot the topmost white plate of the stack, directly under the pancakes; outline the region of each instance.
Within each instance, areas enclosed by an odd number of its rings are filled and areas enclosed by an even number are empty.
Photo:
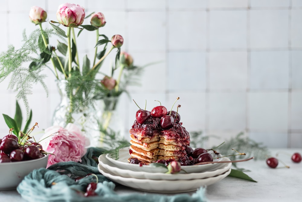
[[[210,152],[209,152],[210,153]],[[212,154],[213,157],[219,157],[216,154]],[[130,164],[128,163],[128,158],[130,158],[129,155],[129,147],[123,148],[119,150],[119,159],[115,160],[110,157],[109,154],[106,155],[106,158],[115,165],[115,167],[119,167],[121,169],[125,170],[131,170],[131,171],[144,171],[144,172],[150,172],[150,173],[165,173],[167,170],[163,167],[153,167],[149,165],[142,165],[139,164]],[[214,159],[213,161],[221,161],[222,158]],[[199,173],[203,171],[208,171],[210,169],[213,169],[217,167],[218,164],[203,164],[203,165],[191,165],[191,166],[182,166],[182,169],[185,170],[187,173]]]

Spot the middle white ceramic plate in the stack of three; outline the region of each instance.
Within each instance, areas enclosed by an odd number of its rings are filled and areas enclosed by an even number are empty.
[[[223,161],[230,161],[227,157],[222,158]],[[111,174],[121,176],[121,177],[132,177],[137,179],[150,179],[150,180],[191,180],[191,179],[202,179],[207,177],[214,177],[220,175],[227,170],[230,169],[232,163],[221,163],[219,164],[216,169],[208,170],[201,173],[188,173],[188,174],[165,174],[165,173],[150,173],[150,172],[143,172],[143,171],[130,171],[115,167],[106,157],[105,154],[102,154],[98,158],[99,164],[101,167],[105,168],[106,170],[110,171]],[[167,170],[166,170],[167,171]]]

